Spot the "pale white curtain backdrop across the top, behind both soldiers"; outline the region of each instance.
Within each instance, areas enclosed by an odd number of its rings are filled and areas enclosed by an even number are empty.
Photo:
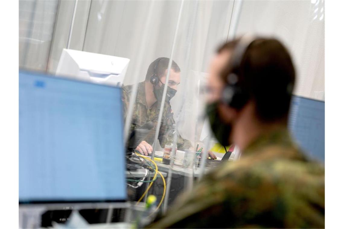
[[[240,2],[185,1],[180,27],[175,31],[181,1],[154,1],[145,55],[138,60],[150,3],[20,1],[20,67],[54,73],[72,33],[71,49],[129,58],[124,84],[134,84],[144,80],[154,59],[170,57],[177,32],[173,59],[181,68],[181,84],[171,105],[180,134],[196,143],[203,127],[200,85],[205,82],[214,50],[235,26],[233,15]],[[324,100],[324,2],[245,0],[239,10],[236,34],[280,38],[290,49],[297,69],[294,94]],[[134,80],[137,69],[139,80]]]

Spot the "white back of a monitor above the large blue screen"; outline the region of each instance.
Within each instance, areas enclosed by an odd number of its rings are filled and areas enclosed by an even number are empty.
[[[64,48],[56,75],[121,86],[129,61],[128,58]]]

